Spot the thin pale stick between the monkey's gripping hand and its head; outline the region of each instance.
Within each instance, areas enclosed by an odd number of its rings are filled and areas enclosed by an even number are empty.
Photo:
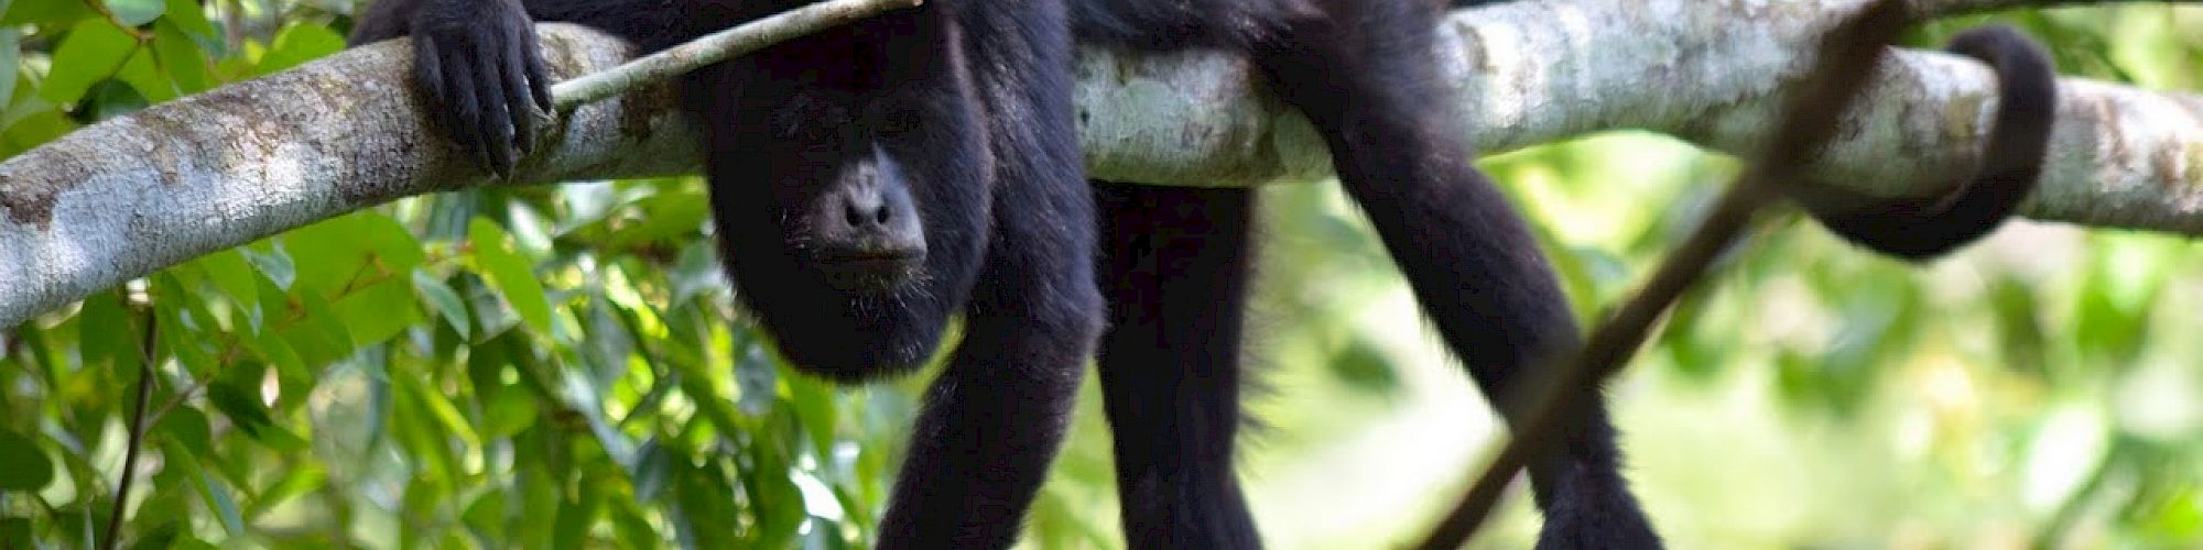
[[[771,18],[745,22],[740,26],[690,40],[634,62],[619,64],[586,77],[551,86],[551,103],[571,110],[597,99],[615,97],[628,88],[672,79],[696,68],[705,68],[727,57],[760,51],[800,35],[866,20],[892,9],[916,7],[923,0],[828,0]]]

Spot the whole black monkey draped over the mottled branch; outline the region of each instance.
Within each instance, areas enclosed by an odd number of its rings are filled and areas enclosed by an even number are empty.
[[[549,106],[531,22],[579,22],[654,51],[793,4],[379,0],[352,40],[412,35],[438,125],[502,172]],[[1254,196],[1088,189],[1073,40],[1254,59],[1326,139],[1472,378],[1511,411],[1518,372],[1573,348],[1577,330],[1527,227],[1458,141],[1432,44],[1441,9],[934,0],[685,77],[723,257],[784,356],[835,381],[901,374],[932,354],[952,312],[967,317],[912,429],[881,546],[1009,546],[1097,352],[1130,546],[1260,546],[1231,475]],[[1531,466],[1540,546],[1657,548],[1604,407],[1586,403],[1588,422]]]

